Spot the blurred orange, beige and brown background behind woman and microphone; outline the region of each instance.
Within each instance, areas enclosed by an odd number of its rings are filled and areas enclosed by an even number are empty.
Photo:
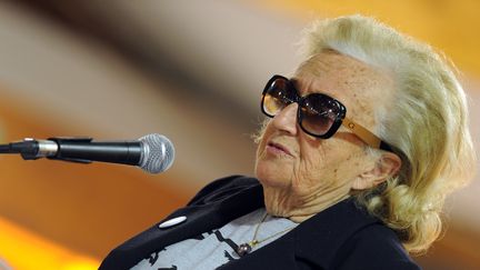
[[[301,29],[363,13],[428,41],[462,71],[479,146],[480,2],[3,0],[0,143],[26,137],[134,140],[177,149],[151,176],[116,164],[0,156],[0,269],[96,269],[116,246],[203,184],[252,174],[260,91],[291,74]],[[457,192],[424,269],[480,269],[480,183]]]

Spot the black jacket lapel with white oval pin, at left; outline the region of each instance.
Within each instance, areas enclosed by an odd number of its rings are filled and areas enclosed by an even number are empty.
[[[100,266],[106,269],[130,269],[157,250],[193,238],[202,232],[220,228],[229,221],[263,206],[263,193],[259,183],[230,197],[221,197],[207,204],[181,208],[150,229],[112,250]],[[186,222],[160,229],[159,224],[177,217],[187,217]]]

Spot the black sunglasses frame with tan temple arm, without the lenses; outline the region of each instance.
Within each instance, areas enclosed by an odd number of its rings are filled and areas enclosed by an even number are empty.
[[[348,128],[349,130],[351,130],[358,138],[360,138],[362,141],[364,141],[370,147],[392,152],[392,148],[390,147],[390,144],[388,144],[387,142],[382,141],[379,137],[377,137],[376,134],[373,134],[371,131],[369,131],[368,129],[363,128],[359,123],[356,123],[350,118],[347,118],[347,108],[340,101],[338,101],[337,99],[334,99],[334,98],[332,98],[332,97],[330,97],[328,94],[324,94],[324,93],[310,93],[308,96],[301,97],[299,94],[297,88],[290,81],[290,79],[283,77],[283,76],[279,76],[279,74],[273,76],[267,82],[267,86],[264,87],[264,89],[262,91],[262,99],[261,99],[260,108],[261,108],[261,111],[267,117],[273,118],[274,116],[268,113],[264,110],[264,106],[263,106],[264,104],[264,97],[266,97],[267,91],[271,88],[273,81],[279,80],[279,79],[283,80],[287,83],[288,88],[294,90],[293,91],[296,93],[294,100],[291,100],[291,102],[288,103],[287,106],[289,106],[289,104],[291,104],[293,102],[297,102],[299,104],[298,110],[297,110],[297,121],[298,121],[298,124],[300,126],[300,128],[307,134],[310,134],[312,137],[320,138],[320,139],[329,139],[330,137],[332,137],[338,131],[338,129],[340,128],[340,126],[343,126],[343,127]],[[314,133],[308,131],[303,127],[303,124],[302,124],[303,114],[301,113],[301,108],[303,107],[304,100],[307,98],[309,98],[309,97],[322,97],[322,98],[329,99],[329,100],[333,101],[338,106],[338,108],[340,110],[337,113],[336,118],[333,119],[333,123],[331,124],[331,127],[329,128],[329,130],[324,134],[320,134],[320,136],[319,134],[314,134]]]

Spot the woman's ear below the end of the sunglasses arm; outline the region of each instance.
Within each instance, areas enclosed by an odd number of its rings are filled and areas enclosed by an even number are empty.
[[[366,190],[384,182],[398,173],[401,167],[401,159],[392,153],[384,152],[374,162],[373,169],[362,172],[353,180],[352,189]]]

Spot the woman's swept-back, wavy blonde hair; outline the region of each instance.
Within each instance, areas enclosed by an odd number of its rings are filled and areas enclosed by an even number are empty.
[[[454,69],[429,46],[361,16],[314,22],[302,49],[306,59],[334,50],[393,74],[393,103],[379,104],[376,133],[394,147],[402,168],[356,198],[409,252],[426,251],[442,231],[446,196],[464,186],[474,167],[466,94]]]

